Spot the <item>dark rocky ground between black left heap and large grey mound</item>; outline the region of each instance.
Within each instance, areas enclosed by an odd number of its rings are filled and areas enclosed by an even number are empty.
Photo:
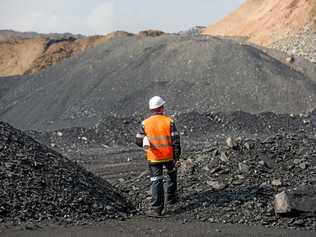
[[[315,112],[175,117],[184,153],[180,199],[166,207],[169,221],[315,230]],[[27,133],[109,180],[136,206],[135,214],[143,215],[150,182],[143,151],[133,145],[141,120],[108,117],[90,129]],[[283,191],[286,210],[275,206]]]

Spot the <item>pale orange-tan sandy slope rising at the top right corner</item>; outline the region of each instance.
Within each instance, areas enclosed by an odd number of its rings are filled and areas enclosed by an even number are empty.
[[[306,44],[300,48],[306,53],[309,52],[308,56],[316,60],[313,52],[315,45],[311,43],[306,49],[308,42],[313,42],[315,36],[305,32],[306,27],[315,32],[315,17],[315,0],[248,0],[238,10],[209,26],[203,33],[244,37],[263,46],[274,44],[275,48],[286,47],[284,51],[295,48],[295,44],[303,44],[300,41],[304,39]],[[287,47],[288,44],[290,47]]]

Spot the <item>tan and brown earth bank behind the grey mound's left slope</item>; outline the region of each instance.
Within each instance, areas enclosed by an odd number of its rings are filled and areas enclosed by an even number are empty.
[[[50,65],[103,44],[114,37],[131,36],[113,32],[105,36],[15,38],[0,42],[0,76],[34,74]]]

